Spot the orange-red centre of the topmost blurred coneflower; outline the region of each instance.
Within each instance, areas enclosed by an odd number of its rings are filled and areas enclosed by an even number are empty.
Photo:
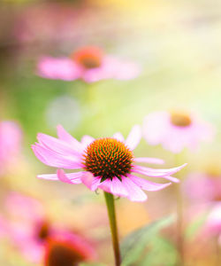
[[[96,47],[82,48],[73,53],[72,59],[87,69],[99,67],[103,62],[103,51]]]

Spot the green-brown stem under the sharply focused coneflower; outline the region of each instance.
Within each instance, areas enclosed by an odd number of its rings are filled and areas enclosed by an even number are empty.
[[[119,251],[118,228],[117,228],[117,222],[116,222],[114,199],[113,199],[113,195],[108,192],[104,192],[104,197],[105,197],[106,205],[108,209],[110,231],[111,231],[111,237],[112,237],[114,257],[115,257],[115,266],[119,266],[121,259],[120,259],[120,251]]]

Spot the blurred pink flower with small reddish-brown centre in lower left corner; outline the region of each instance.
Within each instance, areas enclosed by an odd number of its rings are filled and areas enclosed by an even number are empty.
[[[49,238],[65,238],[67,235],[76,239],[79,243],[80,237],[53,226],[46,218],[42,205],[33,198],[11,192],[5,201],[5,207],[9,219],[3,219],[5,233],[11,239],[21,254],[30,262],[42,262],[45,253],[45,245]],[[81,240],[84,242],[84,240]],[[85,244],[87,246],[87,244]],[[94,250],[88,244],[88,250],[94,254]],[[89,252],[88,251],[88,252]]]

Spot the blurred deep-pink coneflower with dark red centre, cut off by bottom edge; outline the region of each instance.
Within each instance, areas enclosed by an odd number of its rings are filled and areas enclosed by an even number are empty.
[[[69,233],[51,236],[45,250],[45,266],[77,266],[95,258],[94,249],[85,240]]]

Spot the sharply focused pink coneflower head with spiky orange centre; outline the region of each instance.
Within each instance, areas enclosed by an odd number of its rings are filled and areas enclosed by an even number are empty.
[[[69,184],[84,183],[91,191],[98,188],[111,194],[133,201],[147,200],[142,191],[158,191],[171,183],[156,184],[134,174],[163,177],[172,182],[178,179],[171,175],[185,165],[170,169],[154,169],[136,163],[163,163],[154,158],[135,158],[133,149],[141,139],[141,129],[134,126],[129,136],[117,133],[113,137],[94,139],[85,136],[81,142],[69,135],[62,126],[57,126],[57,136],[38,134],[39,143],[32,146],[34,154],[44,164],[58,168],[57,174],[40,175],[39,178],[60,180]],[[66,169],[80,169],[79,172],[65,174]]]

